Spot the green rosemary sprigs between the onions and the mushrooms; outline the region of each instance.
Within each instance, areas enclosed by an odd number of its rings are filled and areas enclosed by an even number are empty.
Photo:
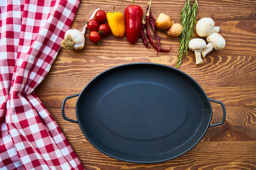
[[[180,48],[179,48],[179,57],[176,62],[176,67],[179,67],[181,64],[183,53],[188,55],[188,42],[193,36],[194,25],[196,23],[196,13],[197,13],[198,3],[197,0],[194,0],[193,6],[191,7],[191,0],[186,0],[185,4],[180,13],[180,24],[183,26],[182,34],[180,35]]]

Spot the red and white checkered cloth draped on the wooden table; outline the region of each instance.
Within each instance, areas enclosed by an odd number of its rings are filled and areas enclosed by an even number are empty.
[[[0,1],[0,170],[84,169],[34,89],[79,0]]]

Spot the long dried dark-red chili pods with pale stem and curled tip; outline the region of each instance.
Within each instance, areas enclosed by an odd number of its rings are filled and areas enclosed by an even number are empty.
[[[152,16],[152,13],[151,13],[151,9],[150,9],[150,6],[151,6],[151,0],[149,1],[149,4],[147,6],[147,14],[146,14],[146,32],[147,32],[147,38],[150,42],[150,44],[157,50],[157,54],[158,52],[169,52],[172,47],[167,50],[167,49],[162,49],[161,46],[160,46],[160,40],[159,40],[159,37],[157,35],[157,32],[156,32],[156,22],[155,22],[155,19],[154,17]],[[156,40],[157,40],[157,43],[158,43],[158,46],[153,42],[153,39],[150,35],[150,28],[149,28],[149,24],[151,25],[152,27],[152,30],[155,34],[155,37],[156,37]]]

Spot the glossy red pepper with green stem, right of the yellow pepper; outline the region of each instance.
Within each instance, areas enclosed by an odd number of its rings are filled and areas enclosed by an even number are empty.
[[[125,18],[125,34],[128,41],[132,44],[138,40],[141,34],[141,20],[143,17],[143,10],[139,5],[129,5],[124,10]]]

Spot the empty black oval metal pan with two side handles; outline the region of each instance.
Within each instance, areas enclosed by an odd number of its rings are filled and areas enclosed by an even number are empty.
[[[76,102],[77,121],[65,116],[67,99]],[[210,125],[210,102],[222,106],[222,122]],[[184,72],[161,64],[131,63],[93,78],[62,104],[65,120],[78,123],[98,150],[136,163],[174,159],[194,147],[209,127],[224,123],[223,103],[208,99]]]

